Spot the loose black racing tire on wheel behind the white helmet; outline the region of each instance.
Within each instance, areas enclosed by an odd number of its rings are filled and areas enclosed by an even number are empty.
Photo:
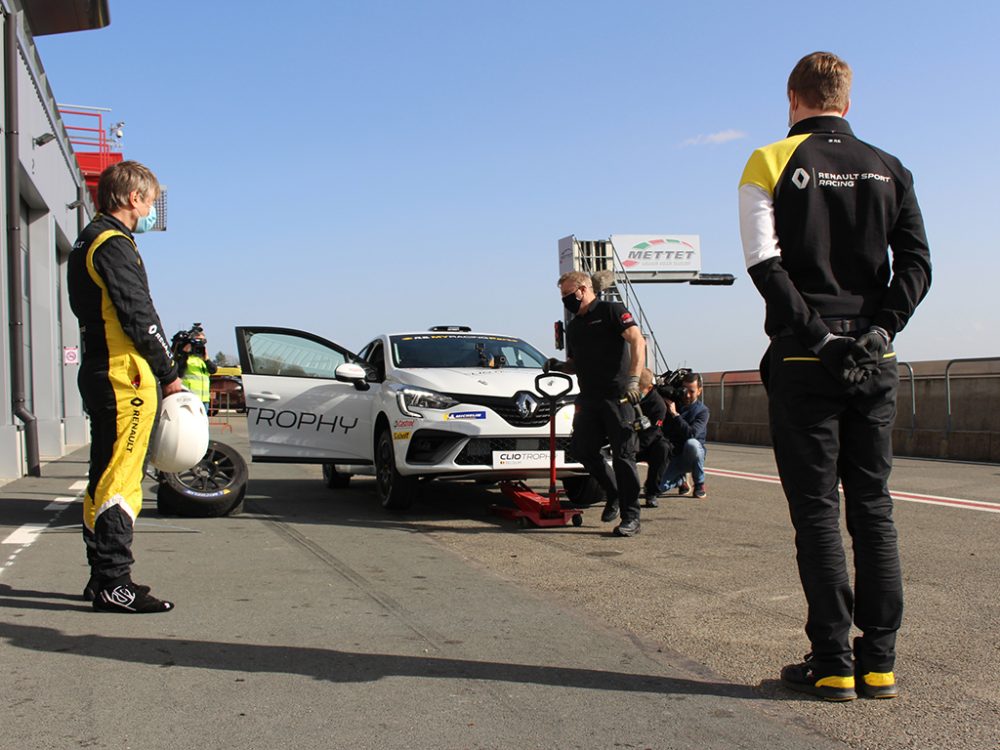
[[[197,465],[160,475],[157,510],[193,518],[236,515],[243,510],[249,475],[247,462],[235,448],[211,440]]]

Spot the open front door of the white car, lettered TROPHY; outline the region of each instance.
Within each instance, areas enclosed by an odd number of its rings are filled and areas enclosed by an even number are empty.
[[[289,328],[237,327],[236,346],[254,461],[372,463],[372,404],[381,384],[336,375],[342,365],[362,364],[357,355]]]

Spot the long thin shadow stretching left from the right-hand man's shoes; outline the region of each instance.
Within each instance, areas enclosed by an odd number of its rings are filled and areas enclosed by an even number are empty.
[[[16,595],[19,592],[8,590],[7,593]],[[374,682],[387,677],[419,677],[663,695],[715,695],[740,699],[762,697],[754,688],[743,685],[660,675],[433,656],[371,654],[301,646],[124,638],[94,634],[67,635],[55,628],[4,622],[0,622],[0,638],[15,648],[44,653],[70,653],[93,659],[163,668],[299,674],[315,680],[340,683]]]

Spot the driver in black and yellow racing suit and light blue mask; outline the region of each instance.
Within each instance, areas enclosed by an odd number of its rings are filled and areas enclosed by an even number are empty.
[[[90,416],[83,538],[91,576],[84,598],[105,612],[173,609],[131,576],[132,526],[142,507],[157,391],[167,396],[183,390],[133,236],[155,224],[159,190],[156,176],[138,162],[104,170],[97,186],[100,213],[77,239],[67,270],[83,342],[78,384]]]

